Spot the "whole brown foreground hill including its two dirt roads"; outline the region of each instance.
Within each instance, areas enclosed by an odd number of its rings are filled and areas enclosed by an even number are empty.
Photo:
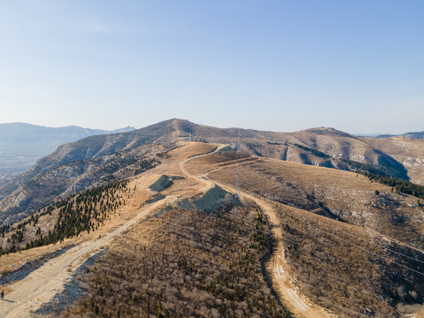
[[[418,317],[424,212],[416,198],[349,171],[225,150],[179,143],[154,169],[3,228],[4,247],[23,249],[0,256],[5,270],[32,246],[74,246],[5,286],[15,302],[0,312],[61,314],[79,289],[74,281],[65,287],[64,277],[93,248],[108,246],[94,267],[77,270],[87,293],[70,316],[284,317],[286,308],[303,318]],[[237,168],[242,207],[228,193]],[[187,201],[198,204],[181,208]],[[54,286],[36,289],[45,281],[40,273],[55,276]],[[27,284],[40,291],[36,298],[19,292]]]

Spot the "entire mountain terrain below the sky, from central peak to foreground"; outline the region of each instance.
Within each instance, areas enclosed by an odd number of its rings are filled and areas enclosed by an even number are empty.
[[[420,318],[423,168],[327,127],[66,143],[0,183],[0,315]]]

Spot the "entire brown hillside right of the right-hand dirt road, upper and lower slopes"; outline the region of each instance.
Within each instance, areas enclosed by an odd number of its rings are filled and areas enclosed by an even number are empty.
[[[233,185],[237,164],[216,170],[221,159],[214,164],[214,155],[199,158],[196,169],[212,170],[209,178]],[[390,187],[352,172],[297,163],[261,158],[239,164],[239,171],[242,190],[351,223],[276,203],[286,257],[307,297],[343,317],[361,317],[367,309],[378,317],[396,316],[398,305],[406,304],[419,310],[413,304],[423,301],[424,288],[414,283],[422,276],[393,263],[424,272],[420,262],[401,255],[424,261],[423,254],[408,248],[409,242],[423,246],[416,198],[392,193]],[[394,222],[394,213],[405,220]],[[387,241],[380,233],[406,244]]]

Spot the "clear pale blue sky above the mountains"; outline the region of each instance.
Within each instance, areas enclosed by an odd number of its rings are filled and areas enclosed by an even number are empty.
[[[0,0],[0,123],[424,131],[421,0]]]

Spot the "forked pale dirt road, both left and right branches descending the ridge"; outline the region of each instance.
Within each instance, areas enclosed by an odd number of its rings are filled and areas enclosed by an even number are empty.
[[[222,185],[207,178],[207,174],[194,176],[184,168],[184,165],[195,159],[205,155],[216,153],[223,145],[218,146],[214,151],[208,154],[194,155],[186,158],[178,163],[179,169],[186,175],[187,178],[200,180],[206,188],[212,186],[221,186],[223,189],[234,192],[232,186]],[[219,168],[217,168],[219,169]],[[284,246],[282,243],[282,231],[279,228],[279,222],[276,213],[266,201],[262,201],[248,193],[241,193],[245,199],[255,201],[256,204],[269,217],[269,223],[272,225],[273,235],[276,238],[277,246],[276,253],[269,261],[269,273],[272,275],[272,282],[276,287],[276,292],[280,296],[284,307],[287,307],[296,317],[303,318],[328,318],[333,317],[326,313],[321,307],[308,302],[303,297],[299,296],[296,289],[291,284],[290,276],[288,275],[288,266],[284,259]],[[155,209],[160,208],[166,203],[175,200],[175,196],[167,196],[161,201],[149,204],[140,208],[138,214],[133,219],[118,226],[115,230],[103,235],[102,239],[85,241],[77,246],[72,247],[66,253],[57,256],[48,261],[39,269],[34,270],[25,279],[8,285],[9,292],[5,299],[0,303],[0,317],[30,317],[32,312],[36,311],[42,304],[48,303],[57,293],[64,290],[64,284],[72,278],[74,271],[81,263],[86,261],[96,252],[100,251],[104,246],[107,246],[111,239],[116,238],[130,226],[139,223],[140,220],[146,218]]]

